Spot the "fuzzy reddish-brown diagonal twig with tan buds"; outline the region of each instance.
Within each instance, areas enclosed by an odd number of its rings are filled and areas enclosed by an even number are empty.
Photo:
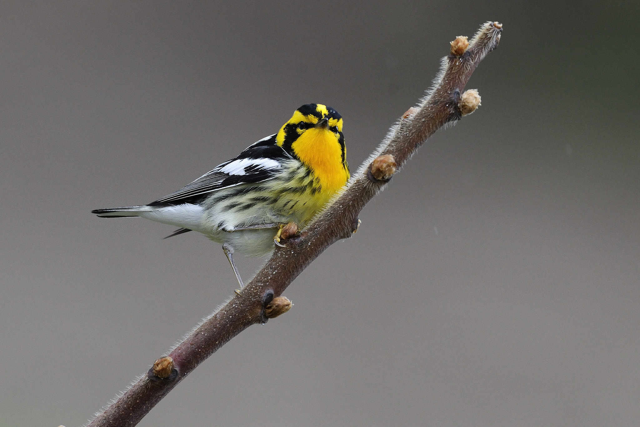
[[[353,174],[347,188],[301,234],[292,230],[285,248],[273,256],[241,291],[196,326],[87,426],[134,426],[196,366],[255,323],[287,312],[280,294],[328,246],[358,229],[358,214],[440,127],[460,120],[480,104],[476,90],[463,93],[472,72],[500,41],[502,25],[486,22],[469,43],[459,36],[433,86],[417,107],[391,127],[385,140]]]

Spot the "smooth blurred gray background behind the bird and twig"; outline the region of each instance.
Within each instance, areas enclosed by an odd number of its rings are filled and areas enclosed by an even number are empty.
[[[606,3],[606,4],[605,4]],[[0,426],[79,426],[236,288],[147,203],[307,102],[352,170],[449,41],[502,42],[437,133],[141,426],[637,426],[637,1],[4,1]],[[241,259],[244,277],[262,262]]]

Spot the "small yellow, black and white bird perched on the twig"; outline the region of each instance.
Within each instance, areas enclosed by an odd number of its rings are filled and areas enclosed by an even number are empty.
[[[242,289],[233,254],[266,255],[293,222],[303,228],[349,179],[342,117],[305,104],[278,133],[253,143],[188,186],[147,205],[96,209],[101,218],[141,216],[222,244]],[[236,291],[239,293],[239,291]]]

